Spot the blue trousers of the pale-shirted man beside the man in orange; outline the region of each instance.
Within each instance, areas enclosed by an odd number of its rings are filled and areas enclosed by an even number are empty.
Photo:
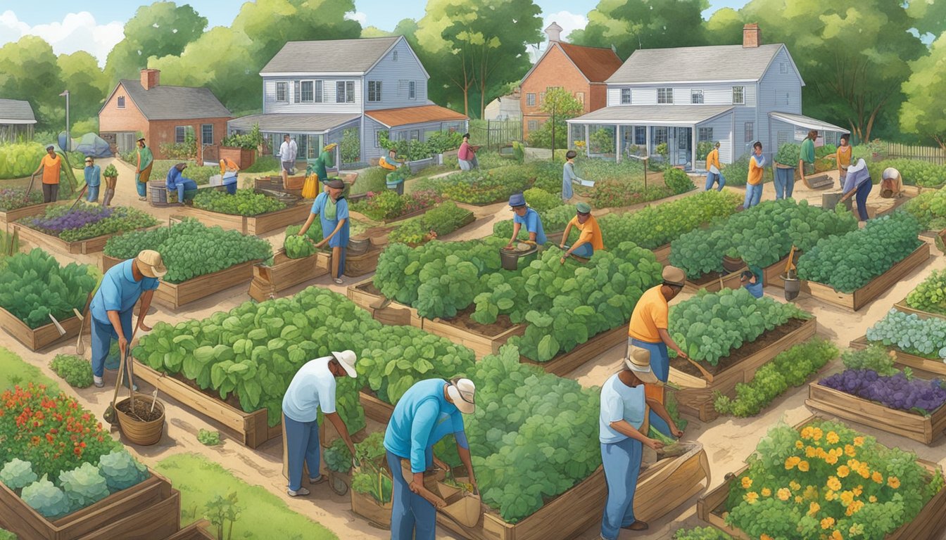
[[[637,521],[634,517],[634,492],[638,489],[642,455],[643,444],[634,439],[601,444],[604,481],[607,482],[601,535],[608,540],[617,540],[622,527]]]

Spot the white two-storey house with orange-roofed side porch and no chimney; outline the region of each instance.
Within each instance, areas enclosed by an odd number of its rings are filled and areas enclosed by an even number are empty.
[[[289,42],[260,76],[263,113],[231,120],[227,129],[259,124],[273,151],[288,133],[299,159],[338,143],[337,165],[359,165],[384,153],[377,142],[382,131],[424,141],[433,132],[467,128],[464,114],[427,98],[430,76],[403,36]]]

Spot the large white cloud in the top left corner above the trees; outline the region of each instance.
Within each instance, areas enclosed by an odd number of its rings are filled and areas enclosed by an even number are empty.
[[[0,43],[15,42],[26,35],[43,38],[57,55],[84,50],[96,57],[100,66],[105,65],[109,52],[125,37],[122,23],[98,24],[88,11],[67,13],[61,22],[36,26],[20,21],[9,9],[0,13]]]

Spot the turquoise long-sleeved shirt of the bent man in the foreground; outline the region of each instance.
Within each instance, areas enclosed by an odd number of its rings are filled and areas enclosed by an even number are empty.
[[[446,384],[441,378],[414,383],[394,406],[384,432],[384,447],[397,457],[410,458],[413,473],[427,469],[427,448],[436,442],[435,435],[447,433],[444,422],[454,433],[464,431],[460,410],[444,396]]]

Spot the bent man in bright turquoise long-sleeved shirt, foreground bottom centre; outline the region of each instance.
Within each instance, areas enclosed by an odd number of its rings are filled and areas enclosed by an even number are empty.
[[[457,439],[460,461],[469,471],[474,493],[479,493],[461,416],[461,413],[473,414],[476,409],[475,392],[473,381],[467,378],[455,378],[449,382],[441,378],[422,380],[414,383],[394,406],[384,433],[384,448],[394,479],[392,540],[435,538],[437,511],[421,493],[429,493],[424,489],[429,446],[436,443],[435,437],[445,434],[444,422],[449,423]],[[413,478],[410,483],[401,473],[401,460],[411,462]],[[436,502],[443,504],[442,500]]]

